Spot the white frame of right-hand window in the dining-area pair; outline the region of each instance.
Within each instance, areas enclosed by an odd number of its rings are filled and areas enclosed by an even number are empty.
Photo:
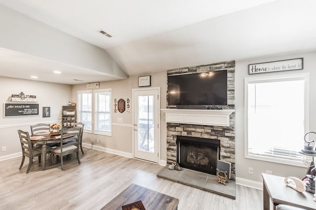
[[[97,97],[96,97],[96,94],[98,94],[98,93],[110,93],[110,105],[109,105],[109,109],[110,109],[110,111],[106,111],[106,112],[104,112],[104,113],[109,113],[110,114],[110,131],[108,132],[108,131],[102,131],[102,130],[97,130],[97,123],[98,123],[98,121],[97,121],[97,115],[98,115],[98,113],[101,113],[101,112],[99,112],[98,110],[97,110],[97,108],[96,108],[96,106],[97,106]],[[94,101],[94,110],[93,110],[93,117],[94,117],[94,126],[93,126],[93,133],[94,134],[99,134],[99,135],[104,135],[104,136],[112,136],[112,113],[111,113],[111,111],[112,111],[112,109],[111,109],[111,106],[112,106],[112,103],[111,103],[111,101],[112,101],[112,89],[110,88],[110,89],[102,89],[102,90],[94,90],[93,91],[93,101]]]

